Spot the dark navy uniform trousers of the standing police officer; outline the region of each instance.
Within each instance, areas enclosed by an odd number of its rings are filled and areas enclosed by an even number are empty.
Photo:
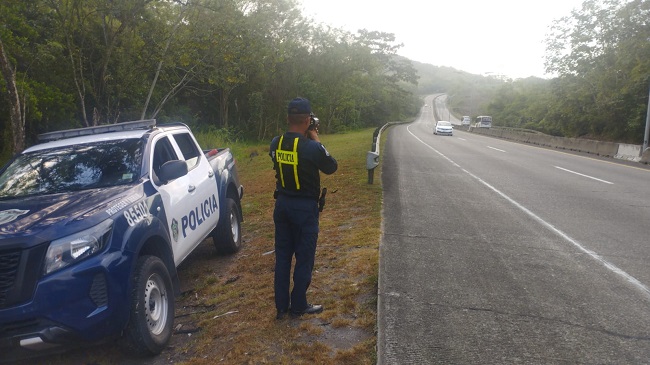
[[[318,241],[318,201],[312,198],[278,195],[273,211],[275,223],[275,307],[300,312],[307,308],[307,289]],[[290,290],[291,262],[293,289]]]

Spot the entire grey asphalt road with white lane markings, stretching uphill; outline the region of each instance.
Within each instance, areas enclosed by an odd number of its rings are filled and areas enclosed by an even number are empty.
[[[378,363],[650,363],[650,170],[427,105],[385,132]]]

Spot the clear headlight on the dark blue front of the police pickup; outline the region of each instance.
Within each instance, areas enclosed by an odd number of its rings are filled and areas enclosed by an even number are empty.
[[[47,275],[99,252],[106,246],[112,228],[113,220],[107,219],[85,231],[52,241],[45,255],[43,274]]]

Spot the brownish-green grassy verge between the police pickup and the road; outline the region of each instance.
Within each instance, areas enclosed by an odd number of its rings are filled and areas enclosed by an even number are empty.
[[[274,173],[268,145],[233,146],[245,191],[244,248],[227,273],[196,284],[195,295],[213,310],[195,315],[202,331],[190,350],[197,356],[186,364],[376,363],[382,191],[379,168],[372,185],[365,168],[372,133],[322,136],[339,169],[322,175],[327,204],[308,299],[325,311],[280,321],[273,301]],[[199,136],[204,146],[215,142]]]

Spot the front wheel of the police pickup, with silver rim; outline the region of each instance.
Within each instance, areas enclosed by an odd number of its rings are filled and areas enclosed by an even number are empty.
[[[141,356],[159,354],[172,336],[174,294],[167,266],[156,256],[142,256],[135,268],[131,316],[125,339]]]

